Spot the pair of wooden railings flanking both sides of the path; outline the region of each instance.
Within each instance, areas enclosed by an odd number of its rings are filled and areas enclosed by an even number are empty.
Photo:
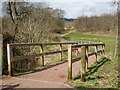
[[[50,51],[50,52],[45,52],[44,47],[46,45],[59,45],[59,50],[57,51]],[[63,49],[63,45],[68,45],[68,49]],[[22,56],[13,56],[13,47],[17,46],[40,46],[41,47],[41,52],[39,54],[32,54],[32,55],[22,55]],[[81,59],[81,80],[85,81],[85,74],[86,70],[88,68],[88,58],[91,55],[96,56],[96,61],[98,59],[98,53],[101,55],[105,54],[104,50],[105,44],[103,43],[96,43],[96,44],[79,44],[79,42],[59,42],[59,43],[32,43],[32,44],[7,44],[7,60],[8,60],[8,72],[9,76],[13,75],[12,68],[13,67],[13,62],[17,60],[23,60],[23,59],[28,59],[28,58],[33,58],[33,57],[41,57],[41,64],[44,66],[44,59],[45,55],[52,55],[52,54],[57,54],[60,53],[60,60],[62,61],[62,56],[63,52],[68,51],[68,80],[72,79],[72,63],[75,61],[78,61]],[[90,48],[94,49],[94,52],[90,51]],[[77,52],[80,52],[81,55],[78,56],[77,58],[72,57],[72,52],[74,50],[77,50]]]

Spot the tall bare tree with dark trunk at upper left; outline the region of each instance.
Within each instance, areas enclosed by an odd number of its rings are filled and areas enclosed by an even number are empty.
[[[26,7],[27,3],[24,2],[23,0],[19,0],[20,2],[17,1],[8,1],[4,3],[4,11],[7,12],[7,14],[10,16],[11,21],[13,23],[14,27],[14,34],[13,34],[13,40],[12,42],[17,41],[17,34],[19,32],[19,23],[23,17],[27,15]]]

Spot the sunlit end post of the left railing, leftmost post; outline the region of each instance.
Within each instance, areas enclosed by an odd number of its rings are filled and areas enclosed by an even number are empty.
[[[13,60],[12,47],[10,46],[10,44],[7,44],[7,61],[8,61],[8,74],[9,74],[9,76],[13,75],[12,60]]]

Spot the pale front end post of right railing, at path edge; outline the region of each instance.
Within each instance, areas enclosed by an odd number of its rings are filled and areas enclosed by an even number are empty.
[[[72,47],[68,45],[68,80],[72,79]]]

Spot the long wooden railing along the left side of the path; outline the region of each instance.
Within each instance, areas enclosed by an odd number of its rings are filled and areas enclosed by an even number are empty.
[[[62,54],[63,52],[67,52],[68,49],[63,49],[62,45],[67,44],[67,45],[73,45],[73,44],[78,44],[77,42],[59,42],[59,43],[31,43],[31,44],[26,44],[26,43],[22,43],[22,44],[7,44],[7,60],[8,60],[8,73],[9,76],[13,75],[13,63],[14,61],[18,61],[18,60],[23,60],[23,59],[28,59],[28,58],[33,58],[33,57],[38,57],[41,56],[41,64],[42,66],[44,66],[44,56],[45,55],[51,55],[51,54],[57,54],[60,53],[60,60],[62,60]],[[57,51],[51,51],[51,52],[44,52],[44,47],[46,45],[59,45],[60,48]],[[23,47],[23,46],[40,46],[41,47],[41,53],[39,54],[32,54],[32,55],[22,55],[22,56],[13,56],[13,47]]]

